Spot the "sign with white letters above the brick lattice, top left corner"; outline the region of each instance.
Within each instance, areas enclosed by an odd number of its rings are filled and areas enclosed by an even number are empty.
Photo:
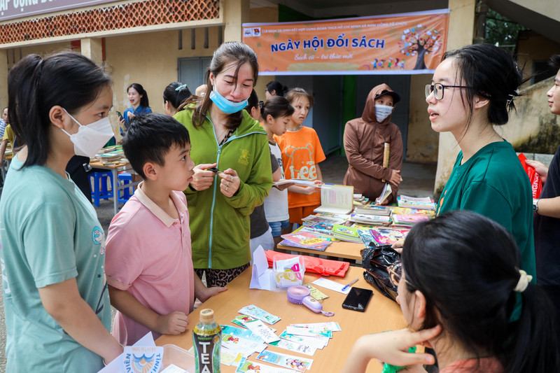
[[[116,0],[0,0],[0,22],[13,18],[83,8]]]

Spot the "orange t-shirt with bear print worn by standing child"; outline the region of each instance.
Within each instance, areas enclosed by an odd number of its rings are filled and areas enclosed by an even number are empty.
[[[295,132],[286,131],[274,136],[282,152],[282,163],[286,178],[316,180],[316,164],[325,160],[325,153],[314,129],[301,127]],[[321,204],[321,193],[300,195],[288,192],[288,207],[314,206]]]

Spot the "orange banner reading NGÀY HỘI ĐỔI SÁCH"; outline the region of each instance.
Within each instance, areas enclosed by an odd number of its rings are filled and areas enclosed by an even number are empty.
[[[344,20],[246,23],[260,75],[433,73],[449,9]]]

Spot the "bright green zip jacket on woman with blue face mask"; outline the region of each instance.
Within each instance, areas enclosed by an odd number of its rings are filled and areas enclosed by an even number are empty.
[[[195,268],[230,269],[246,265],[249,251],[249,215],[264,202],[272,187],[272,167],[267,134],[243,111],[241,125],[222,146],[218,146],[210,118],[201,127],[193,125],[193,110],[176,113],[187,127],[190,157],[195,164],[217,163],[220,171],[235,169],[241,184],[230,198],[220,192],[220,178],[207,190],[185,190],[190,216],[190,235]]]

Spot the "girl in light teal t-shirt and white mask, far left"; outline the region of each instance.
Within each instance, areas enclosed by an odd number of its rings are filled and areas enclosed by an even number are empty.
[[[123,352],[109,333],[105,236],[64,168],[113,136],[111,78],[82,55],[29,55],[8,74],[8,102],[24,146],[0,200],[6,372],[97,372]]]

